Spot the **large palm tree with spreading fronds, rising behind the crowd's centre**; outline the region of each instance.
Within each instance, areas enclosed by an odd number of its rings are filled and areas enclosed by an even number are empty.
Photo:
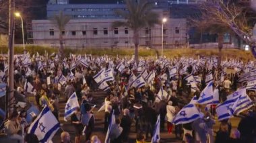
[[[117,15],[120,15],[125,21],[114,21],[113,28],[127,27],[133,30],[133,43],[135,46],[135,61],[138,64],[139,30],[145,27],[154,27],[159,23],[158,13],[152,11],[153,4],[147,0],[125,0],[127,11],[118,9]]]

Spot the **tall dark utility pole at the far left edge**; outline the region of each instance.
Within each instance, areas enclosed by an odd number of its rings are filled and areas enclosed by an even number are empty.
[[[8,39],[8,88],[7,88],[7,111],[8,116],[13,113],[13,44],[14,44],[14,11],[15,11],[15,0],[9,0],[9,39]]]

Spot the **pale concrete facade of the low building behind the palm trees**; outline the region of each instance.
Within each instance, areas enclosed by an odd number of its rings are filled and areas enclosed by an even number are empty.
[[[73,48],[133,46],[133,31],[127,28],[113,29],[111,25],[115,20],[71,19],[67,23],[65,34],[63,35],[65,46]],[[118,34],[115,34],[115,30],[117,30]],[[94,34],[94,31],[97,31],[97,34]],[[186,19],[168,19],[164,23],[164,32],[164,47],[168,48],[187,44]],[[59,30],[49,20],[33,20],[32,33],[34,44],[59,46]],[[161,41],[162,25],[139,30],[141,46],[160,47]]]

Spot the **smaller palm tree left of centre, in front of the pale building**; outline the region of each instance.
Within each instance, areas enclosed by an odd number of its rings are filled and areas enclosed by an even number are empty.
[[[64,47],[63,47],[63,32],[65,32],[65,26],[71,18],[68,15],[64,15],[63,11],[59,11],[58,15],[55,15],[51,21],[59,29],[59,57],[63,60]]]

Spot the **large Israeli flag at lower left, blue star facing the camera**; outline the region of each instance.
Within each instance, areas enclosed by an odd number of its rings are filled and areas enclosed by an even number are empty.
[[[45,106],[28,128],[28,134],[36,135],[39,142],[49,142],[60,127],[55,115]]]

